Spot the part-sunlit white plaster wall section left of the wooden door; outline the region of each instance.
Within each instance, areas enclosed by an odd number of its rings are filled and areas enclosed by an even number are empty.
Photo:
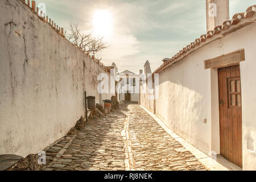
[[[156,114],[171,130],[208,153],[210,75],[201,62],[201,59],[192,54],[160,73]],[[204,123],[206,118],[208,122]]]

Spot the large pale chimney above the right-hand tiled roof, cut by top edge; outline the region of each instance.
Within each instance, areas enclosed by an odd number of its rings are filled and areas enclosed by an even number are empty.
[[[206,0],[207,31],[229,20],[229,0]]]

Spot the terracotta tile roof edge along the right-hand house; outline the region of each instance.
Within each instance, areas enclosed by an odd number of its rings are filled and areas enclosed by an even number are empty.
[[[224,23],[222,23],[220,26],[216,26],[214,30],[210,30],[206,34],[201,35],[200,38],[196,39],[187,47],[184,47],[182,50],[177,52],[176,55],[173,56],[170,60],[165,61],[162,65],[160,65],[160,67],[156,69],[154,73],[159,73],[160,71],[165,69],[168,64],[174,63],[177,59],[180,58],[180,56],[184,55],[184,53],[191,51],[192,48],[199,46],[200,43],[205,42],[205,40],[212,38],[214,35],[220,34],[224,30],[228,30],[230,26],[240,23],[242,19],[250,18],[255,14],[255,11],[256,11],[256,5],[253,5],[248,7],[244,13],[234,14],[232,17],[232,20],[227,20]]]

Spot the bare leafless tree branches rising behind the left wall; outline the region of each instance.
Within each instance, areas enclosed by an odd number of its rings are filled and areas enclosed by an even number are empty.
[[[81,32],[79,24],[70,23],[69,26],[69,32],[66,33],[67,39],[85,53],[95,55],[102,49],[109,47],[109,45],[103,41],[103,37],[96,38],[93,37],[92,32],[88,34]]]

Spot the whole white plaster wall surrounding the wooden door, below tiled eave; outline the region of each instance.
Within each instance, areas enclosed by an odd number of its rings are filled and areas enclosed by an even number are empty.
[[[245,49],[240,63],[242,86],[243,169],[256,170],[256,23],[197,49],[159,74],[156,114],[171,130],[205,154],[219,152],[217,69],[204,60]],[[141,105],[150,107],[147,94]],[[206,120],[205,120],[206,119]],[[207,121],[206,123],[204,121]]]

